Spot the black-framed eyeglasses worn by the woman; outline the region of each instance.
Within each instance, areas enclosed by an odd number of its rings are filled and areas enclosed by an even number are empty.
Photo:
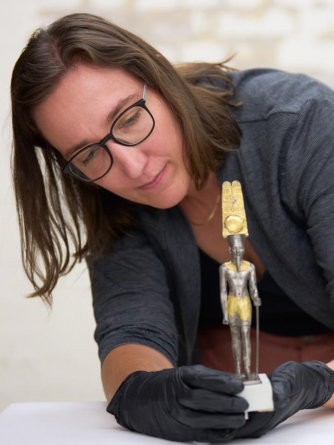
[[[90,144],[73,155],[64,166],[63,173],[85,182],[101,179],[113,166],[113,155],[106,142],[113,139],[118,144],[132,146],[140,144],[153,132],[155,125],[150,110],[146,107],[147,84],[144,83],[142,98],[127,107],[113,122],[108,133],[100,142]]]

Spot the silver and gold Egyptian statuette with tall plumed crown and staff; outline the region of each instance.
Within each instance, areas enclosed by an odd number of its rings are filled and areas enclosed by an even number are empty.
[[[222,184],[222,236],[227,237],[232,261],[219,267],[220,302],[223,324],[231,329],[235,374],[246,380],[258,380],[258,307],[261,299],[256,288],[255,266],[243,261],[244,240],[248,236],[243,193],[238,181]],[[227,285],[229,292],[227,292]],[[249,286],[249,292],[248,292]],[[257,311],[256,371],[251,373],[250,327],[251,300]],[[241,373],[242,358],[245,374]]]

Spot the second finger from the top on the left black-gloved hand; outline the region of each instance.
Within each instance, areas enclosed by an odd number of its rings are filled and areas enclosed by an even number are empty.
[[[216,394],[206,390],[187,390],[177,396],[181,405],[193,410],[219,413],[243,413],[248,408],[247,401],[242,397]]]

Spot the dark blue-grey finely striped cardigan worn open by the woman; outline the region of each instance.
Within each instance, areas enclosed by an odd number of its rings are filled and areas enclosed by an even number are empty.
[[[285,293],[334,330],[334,92],[304,75],[230,73],[242,129],[217,178],[242,183],[250,243]],[[101,364],[125,343],[200,362],[200,264],[178,206],[143,206],[112,253],[87,260]],[[217,295],[217,298],[218,295]],[[282,320],[284,323],[284,320]]]

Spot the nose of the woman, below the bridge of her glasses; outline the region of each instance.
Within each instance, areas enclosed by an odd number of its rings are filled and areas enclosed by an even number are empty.
[[[106,142],[106,146],[113,156],[113,170],[118,170],[131,179],[142,177],[148,156],[142,150],[141,144],[121,145],[113,140]]]

